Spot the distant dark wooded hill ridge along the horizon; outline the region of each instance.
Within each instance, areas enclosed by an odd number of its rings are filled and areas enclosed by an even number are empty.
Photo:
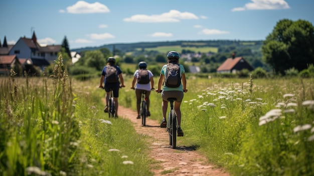
[[[122,53],[132,52],[135,50],[144,50],[148,48],[156,48],[156,47],[166,47],[166,46],[181,46],[185,47],[215,47],[218,48],[218,52],[224,48],[250,48],[252,50],[260,50],[263,41],[240,41],[240,40],[207,40],[207,41],[166,41],[166,42],[139,42],[139,43],[117,43],[117,44],[109,44],[102,45],[99,47],[86,47],[86,48],[77,48],[71,49],[71,51],[81,52],[81,51],[90,51],[90,50],[98,50],[101,48],[107,48],[110,51],[113,49],[120,50]],[[180,51],[181,52],[181,51]]]

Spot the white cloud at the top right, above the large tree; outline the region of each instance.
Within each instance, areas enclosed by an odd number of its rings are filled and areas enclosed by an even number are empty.
[[[251,0],[253,3],[247,3],[244,7],[234,8],[231,11],[245,11],[245,10],[275,10],[275,9],[289,9],[289,5],[284,0]]]

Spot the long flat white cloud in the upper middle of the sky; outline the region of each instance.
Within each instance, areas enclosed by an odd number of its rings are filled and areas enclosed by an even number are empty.
[[[139,23],[164,23],[164,22],[180,22],[180,20],[197,20],[196,15],[190,12],[180,12],[177,10],[171,10],[167,13],[160,15],[133,15],[130,18],[125,18],[125,22],[139,22]]]

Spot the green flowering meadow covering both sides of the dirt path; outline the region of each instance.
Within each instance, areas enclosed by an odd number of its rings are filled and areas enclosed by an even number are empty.
[[[314,175],[313,78],[187,78],[177,145],[231,175]],[[46,77],[0,79],[0,175],[153,175],[148,136],[103,115],[99,78],[75,81],[57,65]],[[124,79],[119,103],[135,110]],[[150,95],[155,120],[160,96]]]

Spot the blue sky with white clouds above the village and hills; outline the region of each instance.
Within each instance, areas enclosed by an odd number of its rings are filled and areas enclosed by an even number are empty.
[[[0,41],[35,31],[40,44],[70,49],[178,40],[264,40],[279,20],[314,25],[312,0],[3,0]]]

